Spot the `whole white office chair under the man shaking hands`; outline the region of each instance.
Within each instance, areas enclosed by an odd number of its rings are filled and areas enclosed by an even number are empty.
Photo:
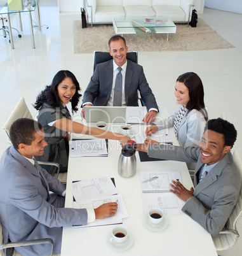
[[[234,150],[232,154],[234,163],[239,171],[240,178],[242,180],[242,160],[239,156],[238,150]],[[229,220],[227,220],[226,229],[221,231],[216,238],[213,238],[213,243],[216,250],[226,250],[231,248],[239,238],[239,232],[236,229],[236,224],[239,218],[242,216],[242,187],[240,189],[239,200],[236,204],[234,211],[232,211]]]

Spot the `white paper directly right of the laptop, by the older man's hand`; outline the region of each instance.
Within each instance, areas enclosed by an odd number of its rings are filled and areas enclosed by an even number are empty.
[[[147,108],[144,107],[126,107],[126,123],[144,124],[142,121],[147,114]]]

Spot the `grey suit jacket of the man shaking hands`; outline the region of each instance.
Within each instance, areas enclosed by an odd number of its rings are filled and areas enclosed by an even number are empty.
[[[194,175],[194,197],[185,203],[182,211],[210,234],[222,231],[238,201],[241,188],[241,178],[231,152],[227,153],[200,183],[198,174],[203,162],[198,147],[149,145],[148,155],[182,162],[198,161]]]

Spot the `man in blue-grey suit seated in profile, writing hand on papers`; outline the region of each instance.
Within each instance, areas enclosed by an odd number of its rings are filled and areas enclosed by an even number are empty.
[[[51,238],[53,253],[60,253],[62,227],[86,225],[117,211],[116,203],[97,209],[64,208],[65,185],[41,168],[33,155],[43,155],[44,130],[41,124],[20,118],[11,125],[8,148],[0,162],[0,220],[4,243]],[[49,191],[53,192],[50,194]],[[50,255],[50,245],[16,248],[24,256]]]

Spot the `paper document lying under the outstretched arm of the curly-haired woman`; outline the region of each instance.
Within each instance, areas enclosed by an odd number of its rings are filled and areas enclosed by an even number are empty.
[[[107,157],[105,139],[69,141],[69,157]]]

